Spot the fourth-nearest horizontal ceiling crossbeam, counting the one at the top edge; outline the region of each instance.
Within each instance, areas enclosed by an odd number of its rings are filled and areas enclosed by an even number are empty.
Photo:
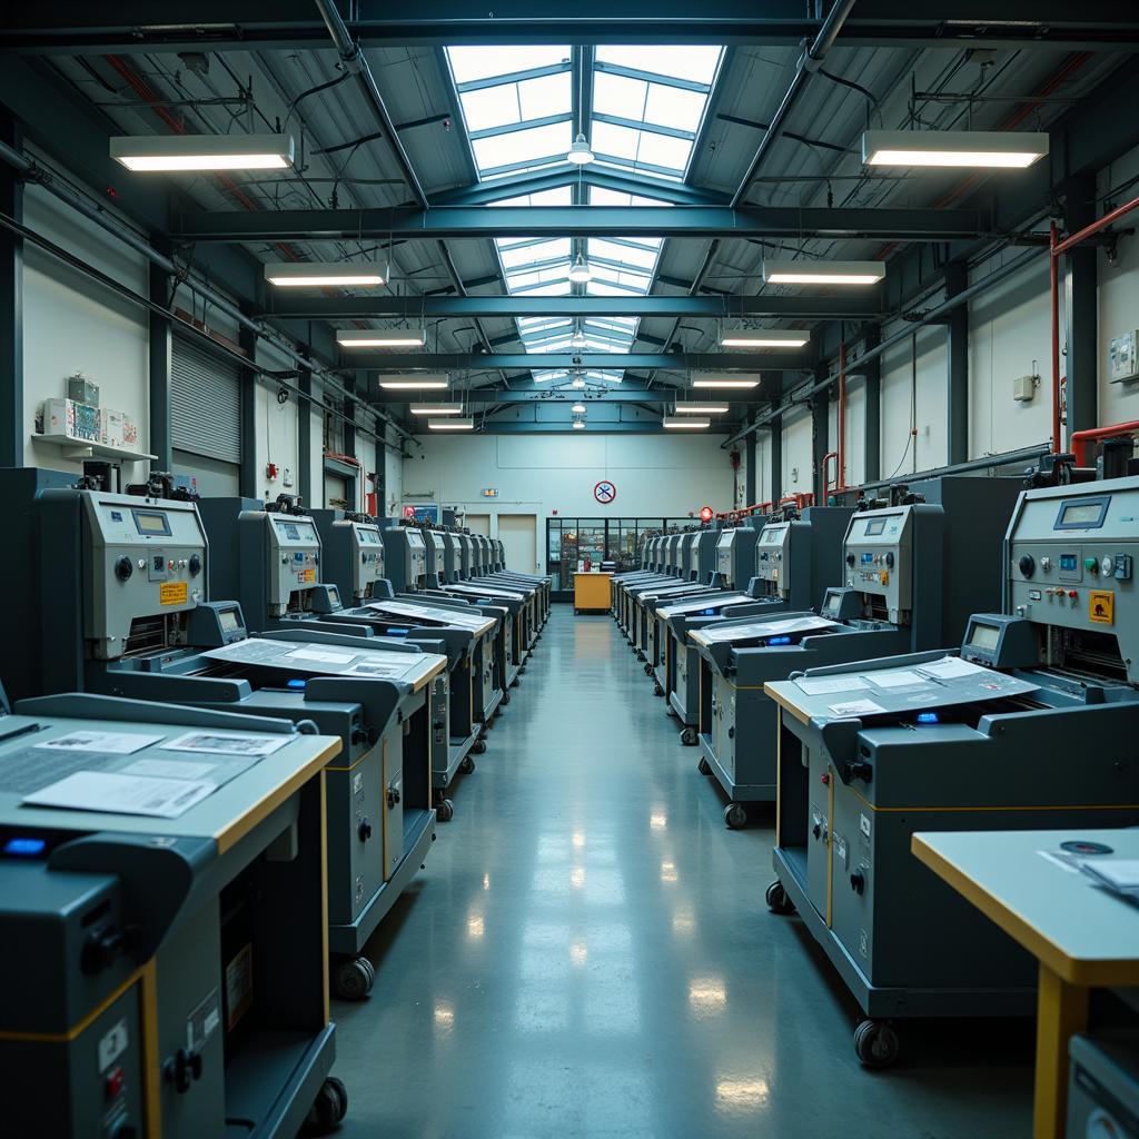
[[[487,371],[584,368],[592,371],[810,371],[808,352],[382,352],[341,358],[339,371]]]

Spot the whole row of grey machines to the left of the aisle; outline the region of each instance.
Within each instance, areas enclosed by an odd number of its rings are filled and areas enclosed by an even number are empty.
[[[130,491],[0,472],[6,1118],[292,1139],[345,1114],[330,990],[371,989],[549,581],[453,527]]]

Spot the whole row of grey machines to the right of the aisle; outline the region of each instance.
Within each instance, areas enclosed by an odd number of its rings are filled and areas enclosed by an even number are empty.
[[[775,804],[768,904],[853,995],[867,1065],[895,1058],[900,1019],[1035,1007],[1034,959],[915,831],[1139,823],[1132,466],[789,507],[649,540],[614,579],[728,825]]]

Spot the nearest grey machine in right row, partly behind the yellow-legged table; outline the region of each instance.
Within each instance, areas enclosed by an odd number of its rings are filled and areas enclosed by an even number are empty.
[[[859,542],[869,517],[854,515]],[[768,686],[782,710],[769,902],[798,909],[859,1001],[868,1063],[896,1052],[888,1018],[1033,1009],[1030,954],[912,858],[915,830],[1139,822],[1137,517],[1137,477],[1026,490],[1003,612],[973,614],[959,654]]]

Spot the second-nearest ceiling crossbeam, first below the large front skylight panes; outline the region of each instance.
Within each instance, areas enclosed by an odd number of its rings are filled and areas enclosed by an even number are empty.
[[[867,238],[948,241],[978,237],[976,210],[886,206],[394,206],[387,210],[259,210],[183,213],[172,233],[187,241],[434,240],[490,237]]]

